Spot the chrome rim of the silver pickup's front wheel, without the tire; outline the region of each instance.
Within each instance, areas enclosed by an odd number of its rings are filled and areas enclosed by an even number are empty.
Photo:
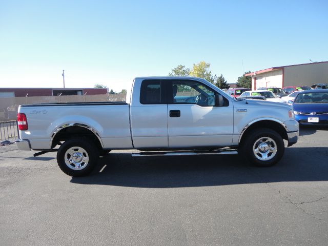
[[[270,160],[277,153],[277,144],[271,137],[260,137],[253,145],[253,153],[259,160]]]

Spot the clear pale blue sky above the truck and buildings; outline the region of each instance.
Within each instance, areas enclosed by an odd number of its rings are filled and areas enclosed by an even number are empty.
[[[328,60],[328,1],[0,0],[0,87],[127,89],[205,60],[244,71]],[[243,61],[243,66],[242,66]]]

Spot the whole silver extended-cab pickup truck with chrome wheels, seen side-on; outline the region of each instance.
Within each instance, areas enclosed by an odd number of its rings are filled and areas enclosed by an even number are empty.
[[[284,153],[283,139],[291,146],[299,131],[289,105],[235,99],[195,77],[137,77],[127,103],[22,105],[17,118],[17,147],[57,151],[70,176],[89,174],[99,156],[118,149],[143,151],[134,156],[239,153],[271,166]]]

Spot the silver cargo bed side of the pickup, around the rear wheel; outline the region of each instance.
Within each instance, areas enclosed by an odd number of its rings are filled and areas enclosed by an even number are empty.
[[[92,129],[104,149],[132,148],[129,105],[125,102],[22,105],[19,112],[25,113],[28,121],[28,131],[21,131],[20,138],[29,139],[35,150],[50,149],[58,129],[72,124]]]

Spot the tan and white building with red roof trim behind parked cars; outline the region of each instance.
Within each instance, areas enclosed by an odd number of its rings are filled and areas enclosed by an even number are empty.
[[[252,90],[260,87],[312,86],[328,83],[328,61],[267,68],[245,76],[252,77]]]

